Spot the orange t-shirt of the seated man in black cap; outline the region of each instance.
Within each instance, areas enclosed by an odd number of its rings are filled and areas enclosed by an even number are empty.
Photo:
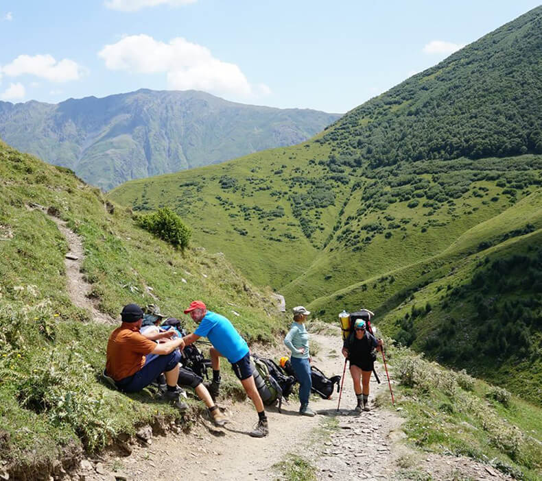
[[[121,324],[109,336],[106,371],[115,381],[128,378],[145,365],[145,356],[154,351],[156,343],[139,333],[132,323]]]

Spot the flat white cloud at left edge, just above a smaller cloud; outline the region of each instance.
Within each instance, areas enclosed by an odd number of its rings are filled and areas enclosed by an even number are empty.
[[[69,58],[57,62],[55,58],[47,55],[20,55],[10,64],[4,65],[2,71],[10,77],[19,75],[36,75],[51,82],[69,82],[77,80],[84,74],[82,66]]]

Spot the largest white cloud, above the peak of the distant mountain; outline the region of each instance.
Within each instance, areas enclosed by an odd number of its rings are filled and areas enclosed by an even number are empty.
[[[174,38],[169,43],[148,35],[126,36],[106,45],[98,56],[110,70],[130,73],[165,73],[167,86],[176,90],[197,89],[242,97],[270,93],[266,85],[252,87],[236,64],[222,62],[207,47]]]

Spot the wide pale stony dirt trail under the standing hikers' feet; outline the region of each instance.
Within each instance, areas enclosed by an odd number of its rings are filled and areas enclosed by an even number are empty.
[[[318,345],[318,354],[312,361],[329,376],[342,374],[340,330],[329,327],[326,332],[311,334],[311,346]],[[226,365],[224,369],[230,369]],[[469,458],[414,452],[407,447],[399,412],[375,407],[375,397],[390,395],[384,366],[378,363],[376,369],[381,384],[372,376],[370,412],[351,412],[356,403],[348,370],[340,412],[336,411],[336,392],[331,400],[311,398],[311,408],[318,411],[315,417],[298,415],[298,400],[292,396],[289,404],[283,403],[282,413],[266,408],[270,434],[263,439],[248,436],[257,421],[252,403],[231,403],[219,398],[219,406],[231,418],[226,428],[214,428],[209,421],[202,420],[189,434],[169,431],[132,445],[129,456],[84,460],[79,479],[281,480],[281,471],[274,465],[290,454],[301,456],[316,467],[319,480],[512,479]],[[408,469],[431,476],[411,478]]]

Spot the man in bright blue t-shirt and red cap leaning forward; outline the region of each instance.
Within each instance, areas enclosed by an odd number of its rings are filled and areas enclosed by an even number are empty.
[[[258,412],[258,424],[249,434],[255,438],[263,438],[269,434],[268,419],[263,408],[263,402],[258,393],[256,383],[252,377],[252,366],[250,365],[250,353],[244,338],[235,330],[232,323],[224,316],[207,310],[202,301],[192,301],[185,309],[185,314],[190,314],[194,322],[199,323],[193,334],[183,338],[185,345],[197,341],[200,337],[207,337],[213,347],[209,349],[211,364],[213,366],[213,382],[209,392],[217,397],[220,388],[220,358],[226,358],[233,368],[233,372],[243,384],[246,394]]]

